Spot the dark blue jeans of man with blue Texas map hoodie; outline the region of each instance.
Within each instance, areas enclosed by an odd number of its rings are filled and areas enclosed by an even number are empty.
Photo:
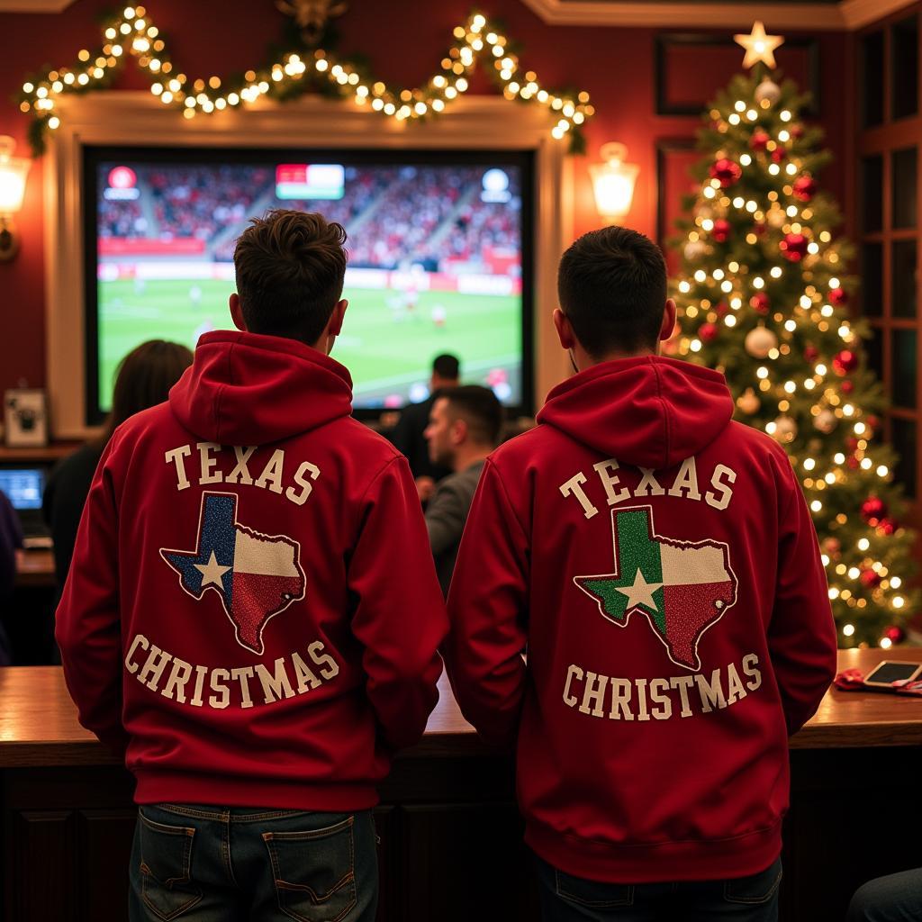
[[[131,922],[372,922],[371,810],[138,808]]]

